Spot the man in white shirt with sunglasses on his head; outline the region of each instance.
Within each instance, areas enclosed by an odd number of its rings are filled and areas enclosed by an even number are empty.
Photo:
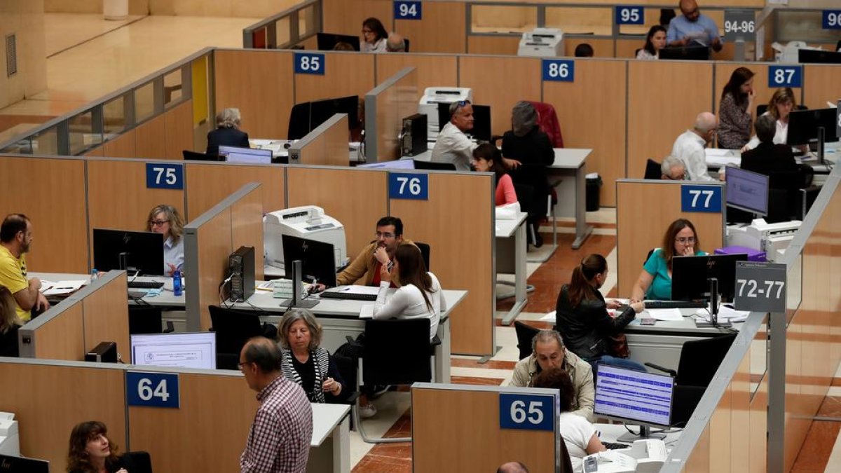
[[[457,171],[469,171],[473,150],[479,145],[464,134],[468,130],[473,130],[473,105],[469,100],[453,102],[450,121],[442,128],[432,148],[432,161],[452,162]]]

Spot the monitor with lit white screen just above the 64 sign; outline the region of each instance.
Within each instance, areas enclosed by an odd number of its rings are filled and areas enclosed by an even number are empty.
[[[131,364],[216,369],[216,332],[131,335]]]

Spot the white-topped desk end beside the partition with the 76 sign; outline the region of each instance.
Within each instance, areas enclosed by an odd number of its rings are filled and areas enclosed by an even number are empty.
[[[497,299],[514,295],[514,306],[502,323],[510,325],[526,306],[526,217],[496,221],[496,273],[514,274],[514,293],[497,294]]]

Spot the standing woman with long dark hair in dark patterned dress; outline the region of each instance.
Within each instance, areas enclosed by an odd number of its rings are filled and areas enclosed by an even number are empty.
[[[742,149],[750,140],[754,111],[754,72],[738,67],[724,86],[718,106],[718,147]]]

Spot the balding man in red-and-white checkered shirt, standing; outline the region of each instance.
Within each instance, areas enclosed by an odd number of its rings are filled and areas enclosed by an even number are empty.
[[[282,354],[266,337],[254,337],[238,364],[260,408],[251,423],[241,473],[303,473],[313,435],[313,411],[304,390],[280,371]]]

